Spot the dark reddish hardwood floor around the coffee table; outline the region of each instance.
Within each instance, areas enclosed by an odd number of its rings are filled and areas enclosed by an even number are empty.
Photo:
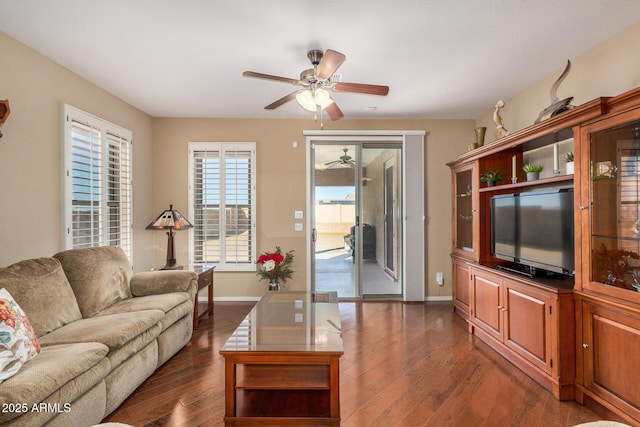
[[[224,359],[218,353],[251,309],[217,303],[191,343],[105,422],[219,426]],[[340,303],[343,426],[574,426],[600,419],[560,402],[467,333],[448,303]]]

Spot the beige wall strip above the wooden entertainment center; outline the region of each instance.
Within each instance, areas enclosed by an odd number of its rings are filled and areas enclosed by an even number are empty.
[[[572,105],[581,105],[601,96],[615,96],[640,86],[640,59],[637,52],[640,41],[640,21],[609,40],[571,60],[571,71],[558,89],[560,99],[573,96]],[[558,64],[551,75],[531,85],[516,96],[505,98],[500,110],[504,126],[511,132],[523,129],[550,104],[549,89],[564,70],[566,63]],[[496,99],[496,102],[498,100]],[[497,139],[493,121],[493,106],[478,118],[478,126],[487,127],[486,142]]]

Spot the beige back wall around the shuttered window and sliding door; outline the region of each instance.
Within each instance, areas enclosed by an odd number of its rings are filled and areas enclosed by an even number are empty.
[[[449,169],[445,165],[473,140],[473,120],[347,120],[324,124],[326,130],[425,130],[427,208],[427,296],[451,295],[451,203]],[[308,120],[177,119],[156,118],[154,134],[154,210],[173,205],[187,211],[187,146],[189,141],[247,142],[257,146],[258,250],[294,249],[296,270],[289,289],[306,288],[306,230],[293,231],[295,210],[306,208],[306,138],[303,131],[317,129]],[[298,148],[292,142],[298,141]],[[162,188],[162,191],[158,190]],[[305,212],[306,218],[307,212]],[[184,234],[184,235],[183,235]],[[186,233],[178,233],[178,262],[188,259]],[[164,236],[155,236],[155,262],[164,259]],[[182,261],[184,262],[184,261]],[[445,286],[435,284],[435,272],[445,273]],[[266,285],[253,273],[216,273],[216,297],[257,297]]]

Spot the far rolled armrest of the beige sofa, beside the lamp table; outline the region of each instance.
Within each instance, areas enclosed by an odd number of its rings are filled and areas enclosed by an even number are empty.
[[[189,292],[195,298],[198,292],[198,275],[188,270],[157,270],[134,274],[131,278],[133,296]]]

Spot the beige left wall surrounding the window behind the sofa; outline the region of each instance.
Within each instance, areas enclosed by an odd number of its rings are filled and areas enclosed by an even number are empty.
[[[151,264],[151,118],[0,32],[0,266],[62,250],[61,103],[133,131],[134,264]]]

